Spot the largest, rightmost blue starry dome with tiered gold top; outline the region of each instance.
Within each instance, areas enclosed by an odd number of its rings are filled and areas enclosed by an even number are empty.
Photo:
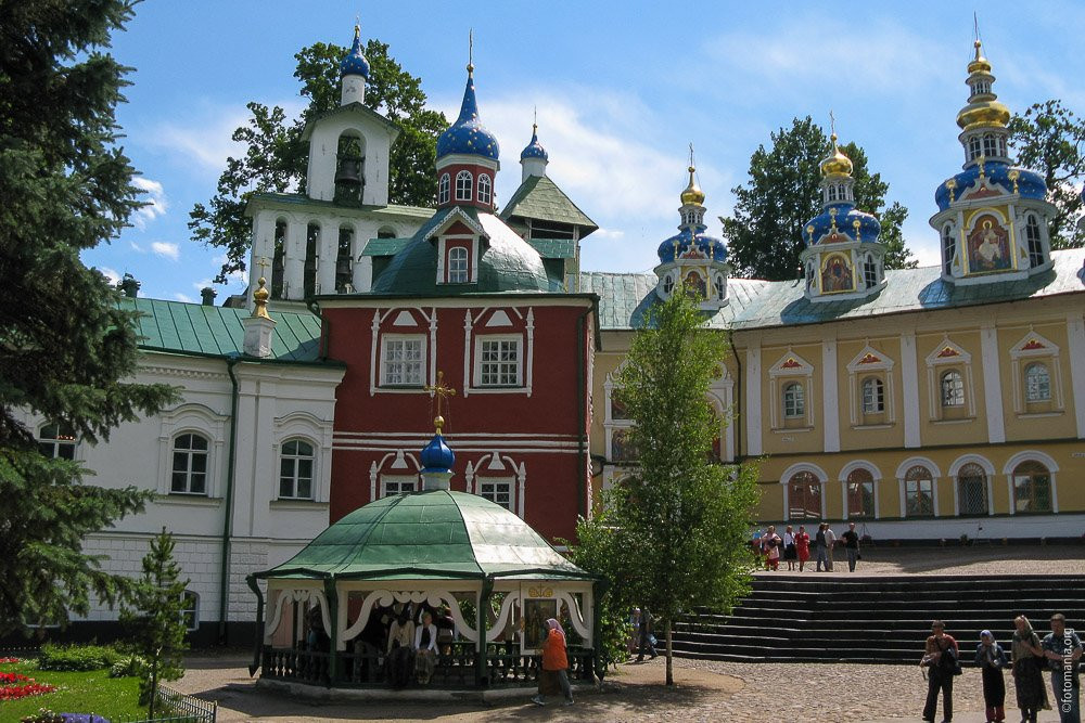
[[[1006,193],[1022,198],[1044,201],[1047,198],[1047,183],[1044,177],[1025,168],[1012,166],[1009,157],[1010,111],[998,101],[992,90],[995,77],[991,73],[991,62],[983,56],[982,43],[974,43],[975,56],[968,64],[968,104],[957,114],[958,137],[965,147],[965,165],[960,173],[942,183],[934,192],[939,210],[949,205],[973,189],[1001,186]]]

